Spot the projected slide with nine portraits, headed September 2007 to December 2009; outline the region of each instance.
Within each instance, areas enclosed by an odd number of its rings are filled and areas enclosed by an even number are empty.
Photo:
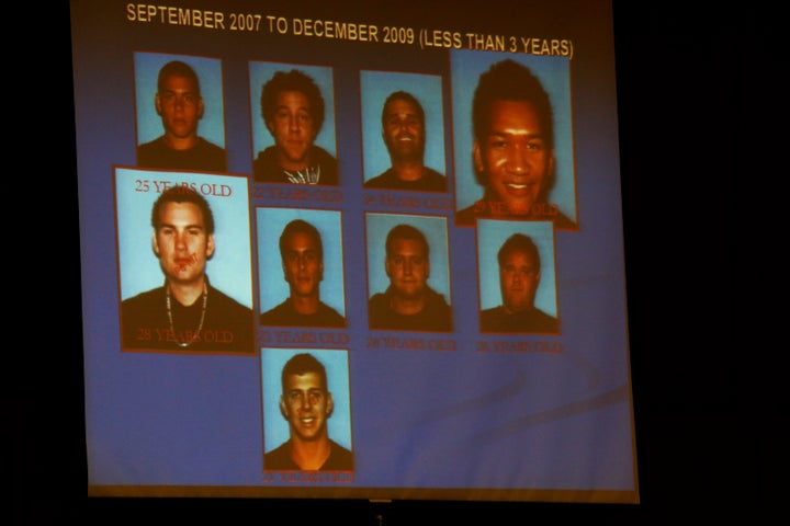
[[[89,496],[637,503],[609,0],[74,0]]]

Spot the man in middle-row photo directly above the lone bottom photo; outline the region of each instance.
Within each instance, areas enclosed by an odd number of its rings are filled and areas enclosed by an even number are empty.
[[[260,316],[261,325],[345,328],[346,318],[320,299],[324,243],[318,229],[294,219],[280,236],[283,278],[290,296]]]

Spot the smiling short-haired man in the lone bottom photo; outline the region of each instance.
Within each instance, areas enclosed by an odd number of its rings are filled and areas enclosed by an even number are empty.
[[[351,471],[353,454],[329,438],[327,421],[335,401],[324,364],[308,353],[291,357],[283,367],[280,412],[290,438],[263,455],[263,469]]]

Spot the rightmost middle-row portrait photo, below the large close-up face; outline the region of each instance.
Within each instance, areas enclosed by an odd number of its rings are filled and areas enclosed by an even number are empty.
[[[558,334],[551,221],[477,221],[481,332]]]

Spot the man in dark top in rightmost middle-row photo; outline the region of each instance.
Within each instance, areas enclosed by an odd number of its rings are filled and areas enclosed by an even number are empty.
[[[497,261],[503,305],[481,311],[481,331],[557,334],[558,320],[534,306],[541,259],[532,239],[514,233],[499,248]]]

